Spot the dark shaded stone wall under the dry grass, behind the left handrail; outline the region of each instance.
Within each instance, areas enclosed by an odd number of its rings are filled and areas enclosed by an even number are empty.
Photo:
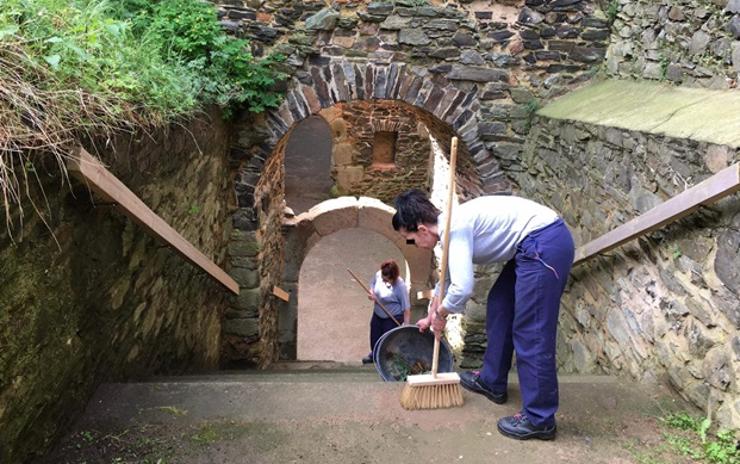
[[[110,170],[216,263],[229,231],[228,128],[218,114],[117,141]],[[218,365],[226,291],[38,163],[47,225],[25,205],[0,230],[0,461],[42,454],[104,381]],[[3,224],[4,216],[2,217]],[[19,239],[22,232],[22,240]]]

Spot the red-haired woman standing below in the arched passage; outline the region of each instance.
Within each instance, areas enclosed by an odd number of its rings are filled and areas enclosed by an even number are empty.
[[[368,298],[375,302],[373,305],[373,317],[370,319],[370,353],[362,358],[362,364],[373,362],[373,348],[375,343],[392,328],[396,322],[388,317],[378,302],[396,318],[399,323],[408,324],[411,319],[411,304],[409,303],[409,291],[406,283],[400,276],[398,264],[395,261],[384,261],[380,270],[375,273],[370,281],[370,295]]]

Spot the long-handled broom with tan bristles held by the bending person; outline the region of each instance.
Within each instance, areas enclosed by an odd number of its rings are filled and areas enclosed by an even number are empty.
[[[457,164],[457,137],[452,138],[450,148],[450,191],[447,196],[447,216],[444,238],[442,240],[442,272],[439,279],[438,306],[444,300],[445,276],[447,274],[447,255],[450,248],[450,224],[452,217],[452,195],[455,192],[455,165]],[[401,406],[404,409],[439,409],[462,406],[463,396],[460,376],[457,372],[437,373],[439,368],[439,339],[442,334],[434,334],[432,353],[432,373],[410,375],[401,392]]]

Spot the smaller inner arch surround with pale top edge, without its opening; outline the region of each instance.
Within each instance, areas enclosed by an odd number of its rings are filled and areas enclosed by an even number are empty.
[[[416,292],[429,285],[433,271],[432,252],[406,244],[391,225],[394,212],[393,208],[374,198],[340,197],[319,203],[309,211],[284,222],[286,253],[282,280],[291,290],[292,296],[289,302],[283,302],[278,308],[280,351],[283,358],[295,358],[298,280],[303,261],[321,238],[340,230],[371,230],[396,245],[409,267],[412,306],[423,305],[417,301]]]

